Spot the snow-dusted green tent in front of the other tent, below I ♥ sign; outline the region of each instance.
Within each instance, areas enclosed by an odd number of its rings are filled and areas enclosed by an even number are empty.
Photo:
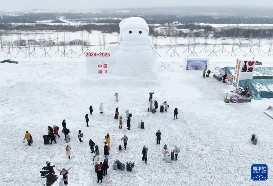
[[[273,79],[245,79],[239,81],[239,86],[249,87],[248,92],[255,100],[273,98]]]

